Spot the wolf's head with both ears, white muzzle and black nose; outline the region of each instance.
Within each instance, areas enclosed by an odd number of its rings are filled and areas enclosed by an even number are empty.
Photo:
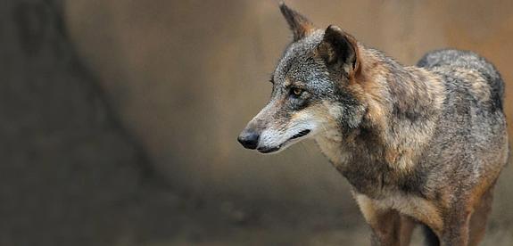
[[[294,40],[270,79],[269,103],[238,137],[245,148],[262,153],[358,127],[365,112],[354,86],[361,70],[356,40],[333,25],[316,29],[285,4],[280,10]]]

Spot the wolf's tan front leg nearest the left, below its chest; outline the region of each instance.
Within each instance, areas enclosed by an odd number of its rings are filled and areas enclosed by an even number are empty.
[[[409,245],[415,222],[394,209],[379,209],[365,195],[356,195],[363,217],[372,229],[373,246]]]

